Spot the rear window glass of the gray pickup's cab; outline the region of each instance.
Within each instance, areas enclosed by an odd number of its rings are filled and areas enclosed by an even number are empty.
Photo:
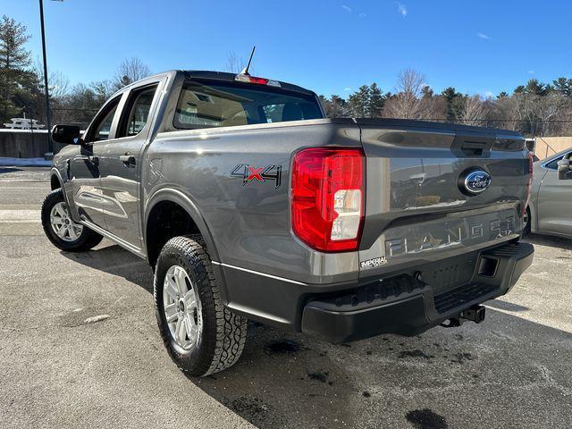
[[[187,80],[173,125],[194,130],[323,117],[311,95],[240,82]]]

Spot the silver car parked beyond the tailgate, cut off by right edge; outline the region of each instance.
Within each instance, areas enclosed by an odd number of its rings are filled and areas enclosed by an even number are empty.
[[[526,231],[572,238],[572,147],[533,164]]]

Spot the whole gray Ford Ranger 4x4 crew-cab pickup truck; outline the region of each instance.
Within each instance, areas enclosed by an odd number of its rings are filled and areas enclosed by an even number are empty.
[[[478,323],[532,263],[514,131],[325,119],[295,85],[169,71],[53,138],[69,146],[47,238],[146,258],[165,347],[191,375],[233,365],[248,319],[334,343]]]

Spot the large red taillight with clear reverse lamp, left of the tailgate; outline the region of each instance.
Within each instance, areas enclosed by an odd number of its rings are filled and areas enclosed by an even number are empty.
[[[311,248],[356,250],[364,221],[365,156],[361,149],[310,148],[292,165],[292,230]]]

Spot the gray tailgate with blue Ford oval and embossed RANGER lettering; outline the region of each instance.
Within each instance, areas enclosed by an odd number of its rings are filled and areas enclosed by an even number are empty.
[[[522,136],[435,122],[357,124],[367,187],[361,277],[518,237],[529,163]]]

